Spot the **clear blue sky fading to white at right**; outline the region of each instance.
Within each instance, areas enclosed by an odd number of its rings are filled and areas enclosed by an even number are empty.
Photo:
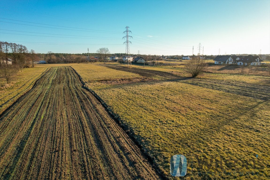
[[[2,1],[0,40],[37,53],[270,53],[270,1]],[[201,54],[202,54],[201,49]]]

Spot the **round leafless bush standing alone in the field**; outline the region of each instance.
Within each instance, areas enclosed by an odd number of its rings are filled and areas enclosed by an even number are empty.
[[[200,58],[200,56],[193,56],[186,64],[186,71],[191,74],[192,77],[202,74],[206,68],[207,64],[205,63],[205,60]]]

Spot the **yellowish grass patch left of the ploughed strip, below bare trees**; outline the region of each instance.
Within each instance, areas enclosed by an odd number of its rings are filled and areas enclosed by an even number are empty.
[[[37,79],[48,70],[48,67],[24,68],[11,77],[11,84],[6,84],[4,78],[0,78],[0,114],[4,112],[19,97],[29,91]]]

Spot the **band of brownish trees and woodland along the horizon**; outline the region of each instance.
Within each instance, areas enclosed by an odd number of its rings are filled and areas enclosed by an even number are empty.
[[[4,41],[0,41],[0,59],[11,59],[15,63],[21,64],[21,67],[30,66],[27,62],[29,61],[45,61],[46,63],[83,63],[83,62],[97,62],[102,61],[102,54],[99,53],[82,53],[82,54],[69,54],[69,53],[53,53],[52,51],[48,51],[47,53],[35,53],[34,50],[28,50],[26,46],[16,43],[8,43]],[[237,56],[246,56],[248,54],[237,54]],[[254,54],[256,55],[256,54]],[[270,59],[270,54],[262,54],[266,60]],[[103,54],[104,56],[104,54]],[[109,57],[116,56],[119,57],[119,60],[122,59],[123,56],[126,56],[125,53],[112,53],[106,54],[105,60],[109,61]],[[151,55],[151,54],[130,54],[129,56],[137,57],[141,56],[146,61],[159,61],[164,60],[164,58],[172,59],[172,60],[181,60],[182,55]],[[204,55],[205,59],[214,59],[216,56]]]

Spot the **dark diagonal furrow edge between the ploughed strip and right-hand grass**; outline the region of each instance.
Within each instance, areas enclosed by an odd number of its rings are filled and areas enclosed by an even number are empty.
[[[82,83],[82,88],[89,91],[96,99],[101,103],[101,105],[105,108],[106,112],[109,114],[109,116],[124,130],[124,132],[127,134],[127,136],[134,142],[134,144],[140,149],[141,153],[144,155],[144,157],[147,159],[149,164],[155,169],[155,171],[161,176],[163,180],[169,180],[169,178],[163,173],[163,171],[158,167],[158,165],[154,162],[154,157],[151,156],[146,149],[143,148],[143,145],[135,138],[134,130],[131,129],[127,124],[123,122],[121,117],[114,113],[114,111],[103,101],[102,98],[100,98],[99,95],[96,94],[95,91],[88,88],[83,82],[82,77],[79,75],[79,73],[70,66],[74,70],[74,72],[78,75],[80,82]]]

